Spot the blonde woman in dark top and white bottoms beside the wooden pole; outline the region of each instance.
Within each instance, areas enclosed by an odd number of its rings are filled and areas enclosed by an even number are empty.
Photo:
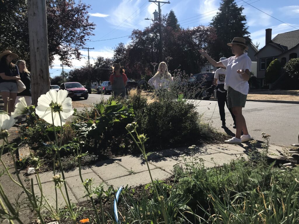
[[[21,81],[26,86],[26,89],[23,92],[17,94],[15,105],[19,102],[19,99],[21,97],[25,98],[25,101],[26,101],[27,105],[31,105],[31,78],[30,78],[30,72],[28,71],[28,69],[26,67],[26,62],[23,61],[23,60],[17,61],[16,66],[18,66]]]

